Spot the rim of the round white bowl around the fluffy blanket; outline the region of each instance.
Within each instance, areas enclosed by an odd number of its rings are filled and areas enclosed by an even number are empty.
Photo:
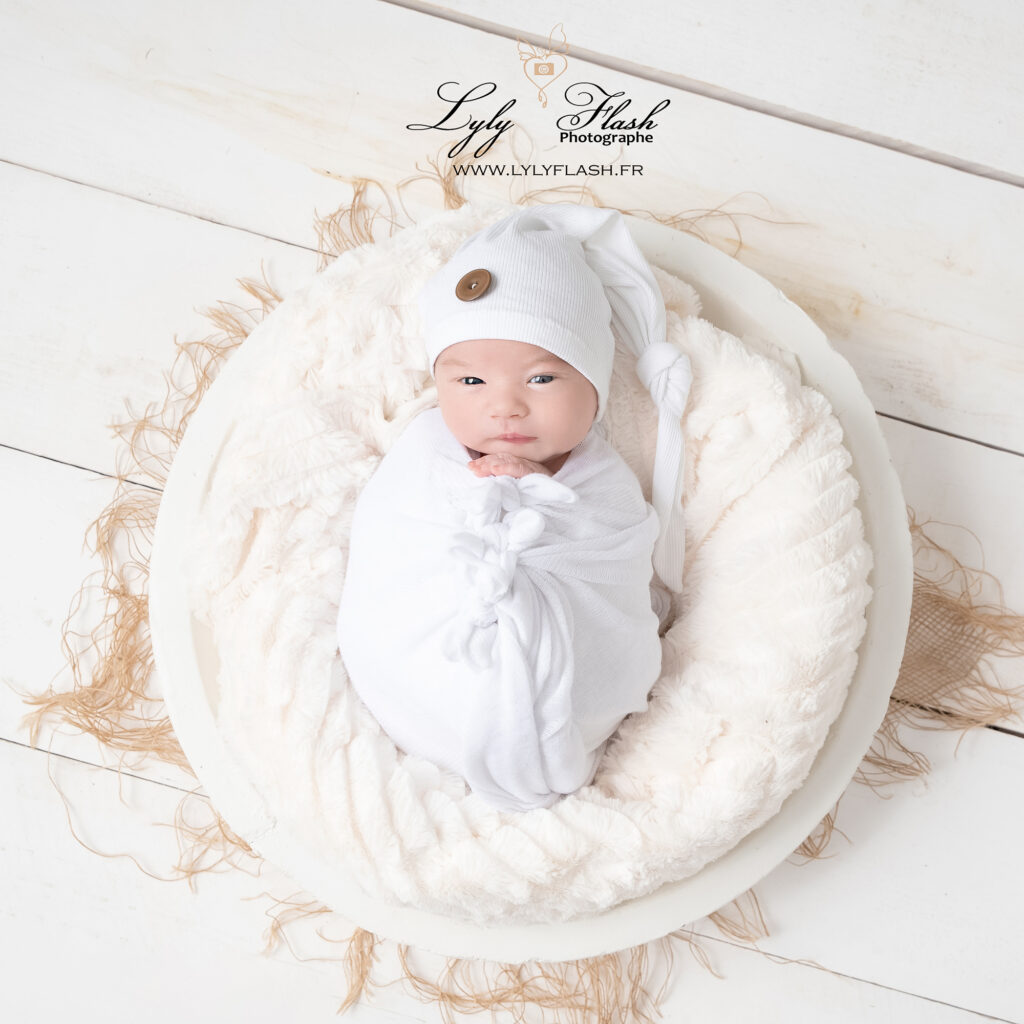
[[[356,879],[267,825],[258,794],[217,731],[217,652],[188,606],[181,553],[230,427],[231,395],[246,386],[252,347],[242,345],[194,415],[161,501],[150,577],[158,676],[175,733],[225,820],[318,900],[381,937],[447,955],[518,963],[593,956],[666,935],[728,903],[784,860],[846,788],[885,716],[910,617],[913,562],[903,495],[870,401],[850,365],[774,286],[696,239],[628,220],[647,258],[697,290],[705,318],[793,351],[804,383],[831,402],[853,459],[857,507],[874,556],[856,673],[804,784],[774,817],[688,879],[594,916],[547,925],[483,927],[371,898]]]

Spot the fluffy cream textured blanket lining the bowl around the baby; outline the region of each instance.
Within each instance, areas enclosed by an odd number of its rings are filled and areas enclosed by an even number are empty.
[[[259,370],[188,570],[220,655],[219,726],[279,828],[382,898],[544,922],[692,874],[775,814],[843,705],[871,553],[826,399],[792,357],[699,319],[692,290],[655,268],[693,387],[685,586],[647,711],[620,726],[590,785],[524,813],[400,754],[338,652],[351,519],[384,454],[436,404],[423,281],[506,212],[464,207],[352,250],[250,336]],[[649,496],[656,416],[625,353],[602,422]]]

